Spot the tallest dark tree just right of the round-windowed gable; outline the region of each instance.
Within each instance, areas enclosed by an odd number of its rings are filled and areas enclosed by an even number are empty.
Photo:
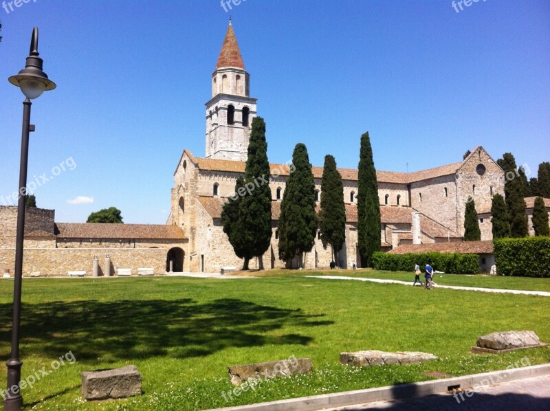
[[[510,236],[525,237],[528,234],[524,200],[525,186],[521,179],[517,178],[516,159],[511,153],[504,153],[503,158],[496,162],[505,172],[504,193],[510,216]]]

